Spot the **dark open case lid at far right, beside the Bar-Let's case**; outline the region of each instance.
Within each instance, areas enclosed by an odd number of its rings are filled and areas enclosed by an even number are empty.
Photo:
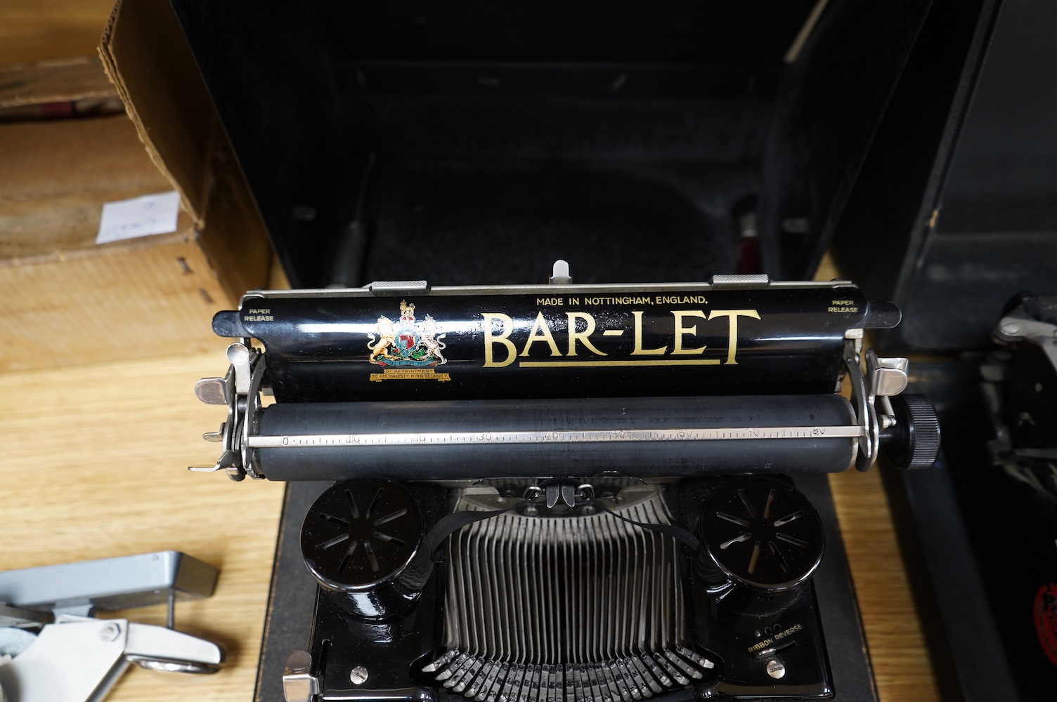
[[[1013,296],[1057,291],[1055,25],[1045,0],[933,4],[834,238],[904,311],[885,350],[990,348]]]

